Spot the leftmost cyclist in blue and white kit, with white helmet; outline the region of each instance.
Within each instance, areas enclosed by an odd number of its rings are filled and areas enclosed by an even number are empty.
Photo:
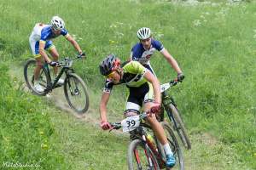
[[[39,93],[44,91],[44,88],[42,88],[38,82],[39,73],[42,69],[44,61],[54,67],[55,76],[58,73],[58,69],[56,66],[58,65],[57,61],[59,59],[59,54],[51,40],[55,37],[59,37],[60,35],[66,37],[67,41],[73,44],[73,47],[76,48],[79,54],[83,54],[78,42],[76,42],[65,29],[65,22],[58,16],[52,17],[50,25],[44,25],[42,23],[36,24],[29,37],[32,54],[37,60],[37,66],[34,71],[34,87]],[[52,60],[49,59],[48,54],[45,52],[45,50],[49,51],[49,54],[53,57]],[[63,79],[59,80],[60,84],[62,84],[63,82]]]

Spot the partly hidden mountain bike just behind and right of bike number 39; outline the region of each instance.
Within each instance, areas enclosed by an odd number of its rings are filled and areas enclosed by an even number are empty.
[[[188,150],[191,149],[191,142],[189,140],[189,136],[186,132],[186,128],[184,126],[183,120],[180,116],[180,111],[177,110],[177,105],[172,98],[172,96],[167,94],[167,90],[177,85],[177,80],[173,80],[171,82],[167,82],[160,85],[161,97],[162,97],[162,106],[166,110],[166,114],[172,122],[173,128],[177,131],[179,138],[181,139],[184,147]],[[164,111],[160,113],[160,122],[164,120]]]

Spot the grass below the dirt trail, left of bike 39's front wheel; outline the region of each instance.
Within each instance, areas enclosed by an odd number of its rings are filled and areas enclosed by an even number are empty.
[[[13,88],[7,71],[1,64],[1,169],[111,169],[113,162],[125,169],[128,137],[62,115],[49,102],[23,92],[21,83]]]

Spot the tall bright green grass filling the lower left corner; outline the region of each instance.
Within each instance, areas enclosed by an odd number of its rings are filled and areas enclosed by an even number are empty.
[[[38,168],[57,169],[68,167],[64,157],[56,151],[55,127],[50,123],[49,111],[41,99],[25,94],[21,83],[11,81],[8,67],[0,66],[0,162],[20,162],[39,165]],[[14,84],[16,87],[13,87]],[[54,162],[59,162],[60,165]],[[41,168],[42,169],[42,168]]]

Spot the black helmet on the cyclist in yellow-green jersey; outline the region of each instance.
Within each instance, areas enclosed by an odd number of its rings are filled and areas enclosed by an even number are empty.
[[[102,60],[102,63],[99,65],[100,72],[103,76],[108,76],[111,71],[116,70],[120,65],[120,59],[117,58],[114,54],[109,54],[105,59]]]

